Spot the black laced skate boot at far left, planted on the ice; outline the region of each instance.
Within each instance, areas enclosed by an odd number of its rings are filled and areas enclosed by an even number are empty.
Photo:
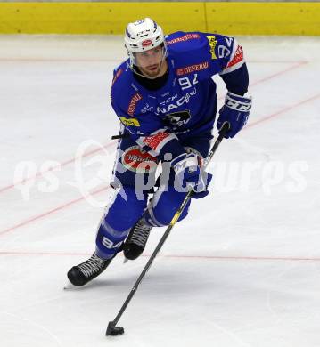
[[[94,252],[86,262],[73,266],[67,276],[73,286],[84,286],[107,269],[113,258],[103,260]]]

